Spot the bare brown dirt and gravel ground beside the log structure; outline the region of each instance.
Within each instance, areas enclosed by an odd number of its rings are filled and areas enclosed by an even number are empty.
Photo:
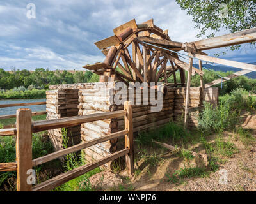
[[[250,128],[252,136],[256,138],[256,115],[244,115],[241,127]],[[208,142],[214,142],[216,135],[212,135]],[[182,178],[177,182],[168,180],[168,175],[182,168],[195,167],[195,161],[188,161],[179,154],[160,154],[153,158],[152,163],[140,159],[136,161],[136,172],[131,178],[126,172],[120,172],[123,190],[129,191],[256,191],[256,144],[244,144],[234,132],[223,133],[223,140],[232,142],[236,153],[225,158],[216,171],[207,171],[204,177]],[[190,150],[200,150],[202,143],[195,143]],[[166,152],[166,150],[165,150]],[[135,154],[139,154],[135,152]],[[159,154],[159,152],[157,153]],[[227,170],[227,184],[220,184],[220,171]],[[106,189],[107,191],[120,190],[120,187]]]

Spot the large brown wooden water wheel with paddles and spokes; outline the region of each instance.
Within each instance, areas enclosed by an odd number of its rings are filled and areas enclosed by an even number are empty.
[[[113,32],[115,35],[95,43],[106,55],[105,61],[84,66],[100,75],[101,82],[168,84],[168,78],[173,75],[174,83],[168,85],[185,85],[184,70],[188,71],[189,64],[179,59],[177,51],[193,49],[193,45],[172,41],[168,30],[154,25],[153,19],[142,24],[131,20]],[[180,82],[177,82],[176,71],[179,71]],[[193,68],[192,75],[195,73],[203,75],[202,71]]]

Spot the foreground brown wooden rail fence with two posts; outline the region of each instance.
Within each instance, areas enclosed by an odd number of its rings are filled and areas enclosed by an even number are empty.
[[[115,112],[95,113],[85,116],[66,117],[61,119],[41,120],[38,122],[31,122],[31,110],[29,108],[20,108],[17,110],[17,128],[0,129],[0,136],[17,135],[16,141],[16,162],[14,163],[0,163],[0,171],[17,171],[17,191],[49,191],[54,187],[60,186],[68,180],[72,180],[84,173],[102,166],[118,159],[118,157],[125,156],[127,170],[130,174],[134,172],[134,157],[133,157],[133,131],[132,131],[132,105],[129,101],[125,101],[124,110]],[[116,117],[123,117],[125,119],[125,129],[112,133],[108,136],[103,136],[90,140],[89,142],[79,143],[67,149],[62,149],[53,152],[43,157],[32,160],[32,133],[45,131],[54,128],[65,128],[68,126],[76,126],[86,122],[93,122],[97,120],[112,119]],[[125,136],[125,148],[106,156],[94,163],[89,163],[84,166],[75,168],[74,170],[62,173],[52,179],[46,180],[36,186],[28,184],[28,172],[33,167],[52,161],[61,156],[65,156],[72,152],[85,149],[98,143],[113,140]]]

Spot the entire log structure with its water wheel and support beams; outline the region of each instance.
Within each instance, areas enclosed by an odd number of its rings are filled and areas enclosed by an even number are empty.
[[[129,87],[130,82],[144,82],[150,89],[155,89],[156,95],[159,92],[157,83],[160,82],[165,87],[165,91],[161,90],[163,108],[160,112],[151,112],[150,107],[154,105],[150,103],[133,105],[133,131],[155,128],[170,120],[179,121],[180,117],[184,117],[182,120],[186,128],[195,127],[198,125],[198,112],[202,108],[203,101],[218,105],[218,87],[212,86],[256,71],[256,66],[253,64],[210,57],[203,52],[212,48],[256,41],[256,28],[184,43],[171,40],[168,30],[154,25],[153,19],[142,24],[137,24],[133,19],[113,29],[113,33],[113,36],[95,43],[106,56],[104,62],[83,66],[83,68],[100,75],[100,82],[50,86],[51,91],[47,95],[47,117],[49,119],[66,117],[65,115],[87,115],[122,110],[124,109],[123,105],[113,103],[116,82],[124,82],[127,85],[127,92],[133,89]],[[183,61],[180,51],[186,53],[189,63]],[[198,59],[199,69],[193,67],[193,59]],[[204,84],[202,61],[224,64],[243,70]],[[187,78],[186,72],[188,73]],[[177,80],[177,75],[180,75],[180,82]],[[194,75],[200,76],[200,87],[191,87],[191,76]],[[173,77],[174,83],[168,82],[170,77]],[[150,83],[154,83],[155,86],[150,87]],[[133,99],[135,100],[136,97],[134,94]],[[67,105],[65,105],[66,103]],[[78,105],[77,109],[76,105]],[[81,141],[88,142],[93,138],[115,133],[124,126],[124,119],[116,118],[81,124],[78,128]],[[77,127],[71,127],[68,134],[72,136],[72,128],[75,131],[77,142]],[[61,130],[49,131],[49,134],[54,142],[54,147],[61,149]],[[86,159],[92,162],[93,159],[101,159],[113,154],[118,149],[118,140],[110,140],[84,149],[84,152],[88,156]],[[109,167],[109,164],[106,166]]]

